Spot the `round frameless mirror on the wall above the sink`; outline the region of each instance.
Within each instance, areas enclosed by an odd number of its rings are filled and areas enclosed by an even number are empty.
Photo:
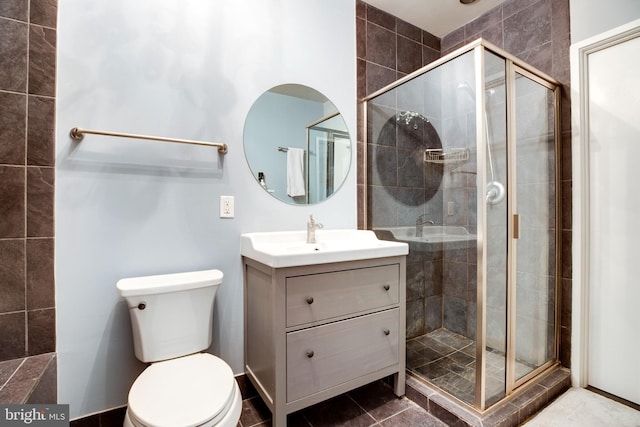
[[[286,84],[262,94],[249,110],[244,153],[265,191],[286,203],[311,204],[343,184],[351,165],[351,138],[327,97]]]

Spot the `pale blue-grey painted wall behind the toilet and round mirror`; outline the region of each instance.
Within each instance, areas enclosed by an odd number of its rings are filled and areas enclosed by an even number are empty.
[[[327,229],[355,228],[355,166],[328,201],[291,206],[259,186],[242,147],[251,105],[283,83],[325,94],[355,138],[355,4],[61,0],[58,23],[58,396],[76,418],[124,405],[144,367],[118,279],[222,270],[211,351],[241,373],[239,235],[302,230],[309,213]],[[97,136],[76,143],[75,126],[223,141],[229,153]],[[219,218],[221,195],[235,196],[235,218]]]

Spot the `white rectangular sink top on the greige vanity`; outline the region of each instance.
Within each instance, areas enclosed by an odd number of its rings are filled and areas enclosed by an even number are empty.
[[[271,267],[326,264],[406,255],[402,242],[378,240],[370,230],[317,230],[317,243],[306,243],[306,231],[240,235],[240,253]]]

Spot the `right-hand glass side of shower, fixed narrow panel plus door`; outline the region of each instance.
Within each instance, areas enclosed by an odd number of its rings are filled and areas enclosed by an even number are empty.
[[[557,93],[512,62],[505,67],[491,53],[484,60],[481,408],[511,394],[557,357]]]

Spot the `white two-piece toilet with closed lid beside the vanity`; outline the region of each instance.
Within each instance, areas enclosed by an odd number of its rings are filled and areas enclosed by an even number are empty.
[[[219,270],[121,279],[136,357],[150,365],[129,390],[125,427],[235,427],[240,389],[211,345]]]

